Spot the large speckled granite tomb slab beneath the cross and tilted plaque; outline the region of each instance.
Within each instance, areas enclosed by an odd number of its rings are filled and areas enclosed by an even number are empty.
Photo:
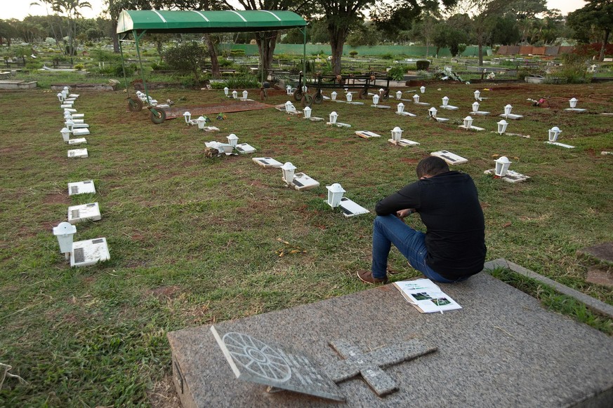
[[[314,304],[216,323],[291,347],[325,367],[344,339],[362,353],[411,339],[435,353],[385,368],[397,384],[378,397],[361,377],[338,383],[346,403],[235,379],[210,325],[169,332],[174,382],[183,407],[608,407],[613,401],[613,339],[547,311],[506,283],[479,273],[440,284],[463,307],[419,313],[393,285]]]

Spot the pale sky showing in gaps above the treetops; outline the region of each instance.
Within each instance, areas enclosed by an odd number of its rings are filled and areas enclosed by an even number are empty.
[[[27,15],[46,15],[47,11],[42,6],[30,6],[35,0],[0,0],[0,20],[16,18],[23,20]],[[81,14],[85,18],[96,18],[105,8],[105,0],[88,0],[91,8],[82,8]],[[41,2],[41,1],[39,1]],[[575,11],[585,6],[583,0],[548,0],[549,8],[558,8],[562,14]]]

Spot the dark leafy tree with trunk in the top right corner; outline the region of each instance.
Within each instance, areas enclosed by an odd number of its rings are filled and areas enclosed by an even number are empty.
[[[598,60],[605,60],[605,49],[613,29],[613,0],[586,0],[588,4],[569,13],[567,23],[573,28],[590,26],[602,33]]]

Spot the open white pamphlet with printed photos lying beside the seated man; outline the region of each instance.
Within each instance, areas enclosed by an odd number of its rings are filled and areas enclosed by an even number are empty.
[[[442,313],[462,308],[430,279],[401,280],[393,285],[421,313]]]

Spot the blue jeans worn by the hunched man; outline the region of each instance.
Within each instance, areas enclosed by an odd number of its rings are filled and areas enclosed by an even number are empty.
[[[387,277],[388,254],[392,244],[409,260],[409,264],[427,278],[441,283],[454,283],[459,280],[443,278],[426,264],[426,234],[415,231],[395,215],[379,215],[375,218],[372,232],[372,276]]]

